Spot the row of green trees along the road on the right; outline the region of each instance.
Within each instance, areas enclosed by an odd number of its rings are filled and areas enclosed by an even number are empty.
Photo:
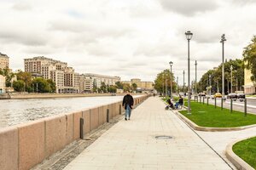
[[[232,65],[232,79],[231,79],[231,65]],[[253,36],[251,42],[244,48],[242,59],[230,59],[224,62],[224,93],[229,94],[235,91],[243,90],[244,85],[244,69],[248,69],[252,73],[251,80],[256,84],[256,36]],[[161,71],[154,80],[154,88],[160,92],[170,94],[170,70]],[[232,92],[231,92],[232,82]],[[166,85],[167,86],[166,86]],[[222,93],[222,64],[218,65],[212,70],[204,73],[199,82],[191,83],[191,89],[195,92],[207,93]],[[188,87],[178,87],[175,82],[175,77],[172,75],[172,90],[174,92],[187,91]]]

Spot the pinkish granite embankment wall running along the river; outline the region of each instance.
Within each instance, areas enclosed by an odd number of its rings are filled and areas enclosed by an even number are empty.
[[[135,98],[135,106],[147,98]],[[119,101],[0,129],[0,169],[26,170],[34,167],[80,138],[80,118],[84,118],[83,132],[86,134],[107,122],[107,110],[109,119],[123,113],[121,105]]]

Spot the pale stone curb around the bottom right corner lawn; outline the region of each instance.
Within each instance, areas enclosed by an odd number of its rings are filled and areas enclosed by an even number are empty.
[[[249,138],[245,138],[245,139],[250,139],[250,138],[253,138],[253,137],[249,137]],[[245,140],[245,139],[239,139],[239,140],[236,140],[235,142],[228,144],[226,151],[225,151],[225,155],[227,156],[228,160],[230,160],[233,163],[233,165],[236,166],[237,169],[253,170],[254,169],[253,167],[251,167],[249,164],[247,164],[246,161],[243,161],[232,150],[234,144],[236,144],[237,142],[240,142],[241,140]]]

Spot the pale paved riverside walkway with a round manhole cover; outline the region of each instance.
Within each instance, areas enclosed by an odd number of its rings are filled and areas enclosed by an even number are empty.
[[[67,169],[230,169],[172,111],[151,97],[85,149]],[[172,139],[155,139],[158,135]]]

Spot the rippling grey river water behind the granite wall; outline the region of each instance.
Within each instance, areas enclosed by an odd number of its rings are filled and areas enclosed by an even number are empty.
[[[136,96],[139,97],[139,96]],[[123,96],[55,98],[55,99],[2,99],[0,100],[0,129],[71,111],[108,105]]]

